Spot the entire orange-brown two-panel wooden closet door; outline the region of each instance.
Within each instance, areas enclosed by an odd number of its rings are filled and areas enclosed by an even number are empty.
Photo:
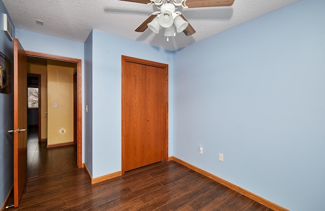
[[[166,160],[166,70],[124,62],[122,173]]]

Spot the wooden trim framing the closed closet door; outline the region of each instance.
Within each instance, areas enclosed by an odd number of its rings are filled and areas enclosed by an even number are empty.
[[[137,63],[137,64],[142,64],[142,65],[148,65],[148,66],[153,66],[153,67],[159,67],[159,68],[163,68],[165,70],[165,160],[168,161],[168,65],[167,64],[163,64],[163,63],[157,63],[157,62],[152,62],[152,61],[148,61],[145,59],[141,59],[141,58],[135,58],[135,57],[130,57],[130,56],[125,56],[122,55],[122,102],[123,102],[123,86],[124,86],[124,82],[123,82],[123,76],[124,76],[124,69],[125,69],[125,63],[126,62],[131,62],[131,63]],[[124,110],[124,104],[122,103],[122,110]],[[122,113],[122,128],[123,128],[123,113]],[[123,140],[123,134],[121,136],[122,140],[122,174],[125,173],[125,143]]]

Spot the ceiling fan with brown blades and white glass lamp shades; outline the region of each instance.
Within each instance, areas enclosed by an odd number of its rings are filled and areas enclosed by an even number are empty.
[[[144,32],[148,27],[152,32],[158,34],[161,27],[165,28],[165,36],[176,36],[176,32],[184,32],[190,36],[196,31],[188,23],[184,15],[176,11],[178,7],[200,8],[200,7],[225,7],[232,6],[235,0],[121,0],[125,2],[135,2],[147,5],[154,5],[160,11],[153,12],[145,21],[143,21],[136,32]],[[148,1],[150,1],[148,3]],[[175,32],[176,29],[176,32]]]

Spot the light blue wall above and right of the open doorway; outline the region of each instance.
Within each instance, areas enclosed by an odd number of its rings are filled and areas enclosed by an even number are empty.
[[[22,47],[28,51],[47,53],[58,56],[82,59],[82,96],[84,96],[84,43],[61,39],[16,28],[15,36]],[[84,111],[84,98],[82,97]],[[84,112],[82,112],[84,116]],[[83,126],[84,128],[84,121]],[[84,145],[84,130],[82,131],[82,145]],[[82,162],[84,162],[84,146],[82,147]]]

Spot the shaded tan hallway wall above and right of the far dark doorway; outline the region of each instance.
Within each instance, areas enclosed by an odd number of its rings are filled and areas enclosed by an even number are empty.
[[[27,73],[41,75],[41,139],[47,139],[47,64],[27,63]]]

